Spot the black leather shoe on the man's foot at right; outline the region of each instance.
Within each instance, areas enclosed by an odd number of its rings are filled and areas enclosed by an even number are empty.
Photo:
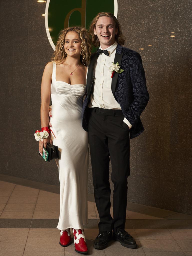
[[[113,239],[119,241],[122,246],[127,248],[137,248],[135,239],[125,230],[119,231],[118,234],[113,232]]]

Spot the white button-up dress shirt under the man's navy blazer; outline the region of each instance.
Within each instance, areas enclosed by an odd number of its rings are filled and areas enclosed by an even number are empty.
[[[105,50],[108,50],[109,56],[104,53],[100,54],[94,64],[94,86],[91,94],[89,108],[103,108],[103,109],[121,109],[119,103],[115,100],[111,91],[111,73],[109,67],[114,62],[115,52],[117,48],[117,42],[109,46]],[[99,47],[101,50],[101,46]],[[124,123],[132,125],[124,118]]]

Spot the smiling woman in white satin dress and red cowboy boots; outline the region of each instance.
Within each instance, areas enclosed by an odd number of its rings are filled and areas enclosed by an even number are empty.
[[[82,105],[91,56],[91,39],[85,28],[71,27],[60,32],[52,62],[44,70],[41,83],[41,127],[48,129],[50,95],[52,135],[39,141],[39,151],[47,143],[57,145],[56,160],[60,181],[60,245],[71,243],[75,250],[88,251],[83,225],[87,214],[88,133],[82,128]]]

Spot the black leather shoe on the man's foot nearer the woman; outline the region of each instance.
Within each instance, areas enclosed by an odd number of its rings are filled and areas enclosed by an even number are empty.
[[[112,240],[112,231],[99,232],[98,236],[94,240],[93,247],[95,249],[105,249],[108,242]]]

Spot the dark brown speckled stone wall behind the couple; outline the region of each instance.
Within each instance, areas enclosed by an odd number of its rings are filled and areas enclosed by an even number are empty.
[[[192,214],[191,10],[187,0],[118,1],[125,46],[141,54],[150,93],[141,117],[145,132],[130,143],[128,200],[187,214]],[[41,16],[45,4],[2,0],[0,12],[0,172],[58,185],[55,162],[42,161],[33,136],[40,128],[41,76],[53,53]]]

